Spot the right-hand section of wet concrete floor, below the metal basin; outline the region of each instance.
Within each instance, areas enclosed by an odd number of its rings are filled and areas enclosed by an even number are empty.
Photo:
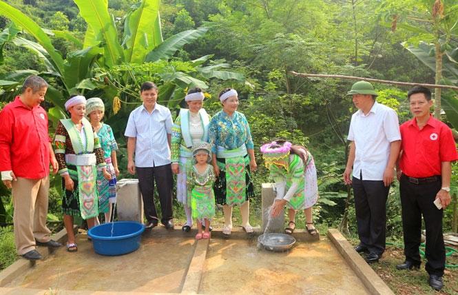
[[[326,238],[284,253],[213,239],[202,276],[199,294],[369,294]]]

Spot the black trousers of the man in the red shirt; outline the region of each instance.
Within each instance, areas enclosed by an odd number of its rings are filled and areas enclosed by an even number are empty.
[[[444,210],[434,205],[441,189],[441,179],[432,183],[415,184],[402,175],[399,185],[402,204],[402,227],[404,231],[404,254],[406,261],[420,264],[421,215],[426,227],[426,263],[428,274],[442,276],[446,263],[446,250],[442,232]]]

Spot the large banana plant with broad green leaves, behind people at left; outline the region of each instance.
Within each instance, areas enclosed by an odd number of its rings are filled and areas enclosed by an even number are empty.
[[[101,97],[108,109],[112,105],[118,105],[120,101],[124,101],[126,105],[135,104],[135,101],[138,103],[138,92],[132,92],[132,89],[138,88],[145,80],[136,77],[136,72],[120,70],[123,67],[129,68],[130,65],[138,69],[138,66],[146,62],[158,63],[156,67],[163,67],[160,77],[156,75],[156,82],[163,90],[159,99],[165,104],[169,103],[172,108],[183,101],[186,88],[207,88],[205,81],[208,79],[244,79],[241,74],[226,70],[229,65],[224,63],[204,66],[203,63],[209,61],[210,55],[187,63],[188,68],[185,70],[177,70],[171,65],[169,59],[175,52],[183,48],[183,45],[202,37],[208,28],[186,30],[163,41],[159,0],[143,0],[129,9],[124,18],[122,40],[118,39],[118,29],[108,12],[107,0],[74,2],[81,17],[87,22],[83,42],[78,41],[70,32],[40,28],[21,11],[0,2],[0,15],[12,21],[10,27],[0,34],[0,61],[1,50],[6,42],[28,48],[39,56],[47,68],[47,72],[41,74],[51,75],[57,81],[56,85],[50,87],[47,95],[56,108],[50,110],[51,118],[65,115],[63,103],[70,94],[76,92]],[[25,39],[22,30],[32,35],[34,41]],[[50,35],[67,39],[77,45],[79,50],[67,54],[64,60],[52,45]],[[120,75],[120,72],[123,73]],[[152,76],[154,74],[150,75]],[[5,92],[14,90],[19,85],[19,81],[7,78],[0,77],[0,87]],[[149,77],[145,77],[147,78]],[[124,100],[119,99],[120,96]],[[118,100],[114,101],[115,98]],[[129,109],[132,108],[127,108]]]

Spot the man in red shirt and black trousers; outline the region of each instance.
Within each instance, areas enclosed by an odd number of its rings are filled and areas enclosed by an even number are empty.
[[[402,154],[397,171],[402,203],[404,254],[397,269],[419,269],[421,215],[426,226],[426,272],[440,290],[446,262],[442,217],[450,204],[451,162],[458,159],[452,131],[430,114],[431,92],[415,86],[408,92],[414,118],[401,125]]]

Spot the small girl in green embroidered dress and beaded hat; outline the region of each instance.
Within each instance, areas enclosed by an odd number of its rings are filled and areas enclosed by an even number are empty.
[[[210,219],[215,216],[215,173],[211,163],[209,143],[194,145],[194,165],[187,169],[187,189],[191,195],[192,217],[197,220],[196,240],[210,238]],[[205,225],[205,232],[202,232]]]

